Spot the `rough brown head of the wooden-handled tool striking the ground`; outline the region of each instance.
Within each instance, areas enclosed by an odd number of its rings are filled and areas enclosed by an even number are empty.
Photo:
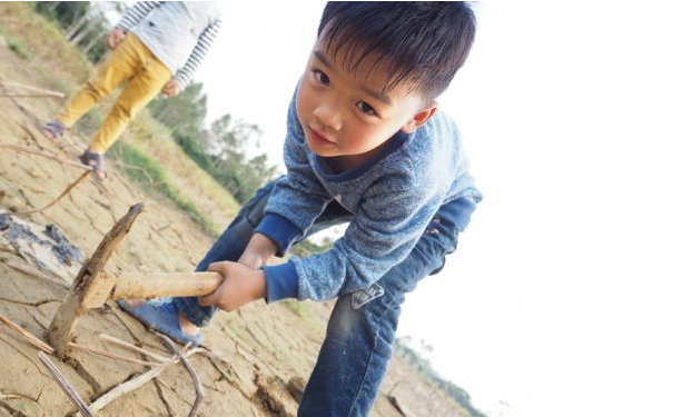
[[[105,272],[105,265],[116,246],[126,237],[132,222],[142,210],[142,203],[130,207],[128,214],[113,225],[90,259],[83,264],[71,285],[69,295],[57,310],[48,340],[61,359],[67,355],[69,341],[80,316],[88,309],[103,306],[116,284],[115,277]]]

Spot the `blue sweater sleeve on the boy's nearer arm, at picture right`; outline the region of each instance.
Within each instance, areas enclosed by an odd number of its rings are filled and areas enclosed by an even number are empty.
[[[327,300],[382,278],[405,259],[438,210],[442,196],[423,188],[369,192],[332,249],[266,267],[268,302],[287,297]],[[271,288],[271,290],[270,290]]]

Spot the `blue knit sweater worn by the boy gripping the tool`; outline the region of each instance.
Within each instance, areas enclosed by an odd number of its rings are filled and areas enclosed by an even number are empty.
[[[332,200],[354,217],[329,250],[265,267],[268,302],[326,300],[372,285],[407,257],[438,208],[453,199],[470,202],[456,221],[458,231],[466,227],[482,195],[452,119],[438,111],[388,145],[364,166],[333,173],[306,145],[294,97],[284,147],[287,175],[275,185],[256,231],[273,239],[283,256]]]

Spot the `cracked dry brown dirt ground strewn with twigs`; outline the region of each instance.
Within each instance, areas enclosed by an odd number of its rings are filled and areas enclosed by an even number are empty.
[[[19,58],[0,44],[0,83],[36,86]],[[0,92],[8,90],[0,88]],[[57,105],[59,101],[57,100]],[[76,160],[83,140],[67,135],[63,146],[47,141],[37,129],[56,107],[52,98],[0,97],[0,143],[16,143]],[[109,260],[109,271],[191,271],[211,245],[211,238],[170,202],[146,197],[115,166],[100,183],[86,178],[55,206],[28,216],[0,218],[0,315],[45,340],[50,321],[67,294],[55,281],[71,282],[82,259],[65,259],[53,250],[61,232],[83,257],[92,254],[103,235],[128,208],[145,203],[142,215]],[[34,210],[55,200],[82,172],[36,155],[0,148],[0,214]],[[2,226],[4,221],[6,226]],[[7,226],[9,224],[12,226]],[[10,236],[22,230],[33,241]],[[65,264],[66,262],[66,264]],[[52,280],[17,270],[29,266]],[[297,401],[287,389],[296,378],[307,379],[324,338],[330,305],[305,304],[295,314],[284,304],[256,302],[236,312],[221,312],[204,330],[205,349],[188,360],[205,390],[199,416],[294,416]],[[86,312],[76,341],[92,348],[146,359],[103,342],[107,334],[164,356],[161,339],[122,312],[115,302]],[[51,357],[76,390],[91,403],[121,383],[147,371],[145,365],[73,351],[71,359]],[[76,407],[38,359],[38,349],[0,325],[0,416],[67,416]],[[398,411],[389,400],[398,398]],[[195,400],[190,376],[181,365],[107,405],[98,416],[182,416]],[[394,401],[395,403],[395,401]],[[458,416],[456,407],[404,363],[394,360],[373,416]]]

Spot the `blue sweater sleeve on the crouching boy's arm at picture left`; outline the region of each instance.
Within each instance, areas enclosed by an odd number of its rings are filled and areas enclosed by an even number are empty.
[[[277,242],[278,256],[303,238],[332,201],[308,159],[305,135],[296,115],[296,96],[287,116],[284,162],[287,173],[275,185],[265,207],[265,218],[256,228]]]

